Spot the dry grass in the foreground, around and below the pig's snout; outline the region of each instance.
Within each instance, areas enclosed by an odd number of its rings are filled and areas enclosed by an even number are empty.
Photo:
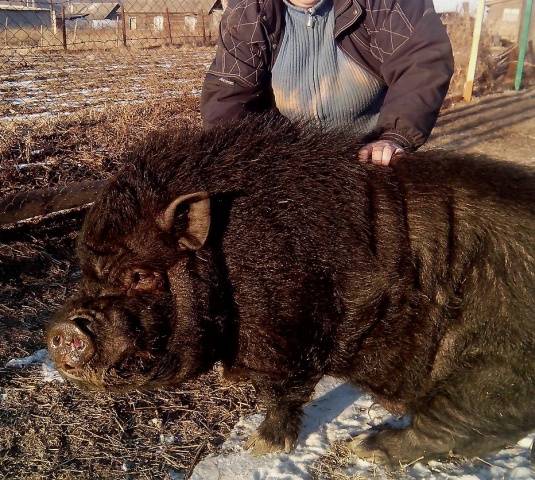
[[[0,478],[188,472],[253,409],[252,387],[214,371],[174,391],[110,395],[44,383],[38,367],[3,368],[43,348],[45,322],[75,291],[81,217],[0,233]]]

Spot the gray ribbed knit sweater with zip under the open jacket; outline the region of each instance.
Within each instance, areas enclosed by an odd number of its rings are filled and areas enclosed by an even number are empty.
[[[336,46],[332,0],[310,9],[284,1],[286,25],[272,70],[277,108],[291,119],[329,127],[351,124],[356,133],[369,132],[386,87]]]

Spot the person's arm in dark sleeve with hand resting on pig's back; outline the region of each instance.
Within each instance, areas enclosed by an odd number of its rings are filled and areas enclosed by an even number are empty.
[[[432,3],[399,0],[397,7],[397,11],[392,9],[395,22],[407,25],[406,38],[396,33],[396,28],[392,34],[375,33],[373,42],[383,59],[381,74],[388,90],[379,113],[378,141],[359,152],[361,160],[382,165],[388,165],[396,151],[416,150],[425,143],[453,74],[451,43]],[[376,19],[378,24],[384,25],[384,21]],[[400,39],[399,45],[393,38]]]

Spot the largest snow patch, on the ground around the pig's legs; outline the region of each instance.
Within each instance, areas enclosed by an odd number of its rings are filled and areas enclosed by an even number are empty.
[[[332,377],[325,377],[316,387],[314,399],[305,407],[303,427],[292,454],[271,454],[254,457],[243,446],[260,425],[263,415],[241,419],[223,444],[218,455],[210,455],[194,469],[191,480],[307,480],[310,467],[329,452],[335,441],[349,440],[381,423],[401,428],[409,418],[395,418],[377,404],[371,396]],[[462,480],[535,479],[530,464],[530,447],[535,434],[521,440],[514,448],[471,463],[416,463],[399,478]],[[347,474],[362,478],[392,478],[386,470],[355,459]]]

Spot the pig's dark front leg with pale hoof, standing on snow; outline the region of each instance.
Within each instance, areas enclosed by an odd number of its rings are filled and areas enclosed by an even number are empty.
[[[291,452],[301,428],[303,405],[310,399],[319,378],[255,382],[260,399],[267,406],[266,418],[246,448],[255,455]]]

